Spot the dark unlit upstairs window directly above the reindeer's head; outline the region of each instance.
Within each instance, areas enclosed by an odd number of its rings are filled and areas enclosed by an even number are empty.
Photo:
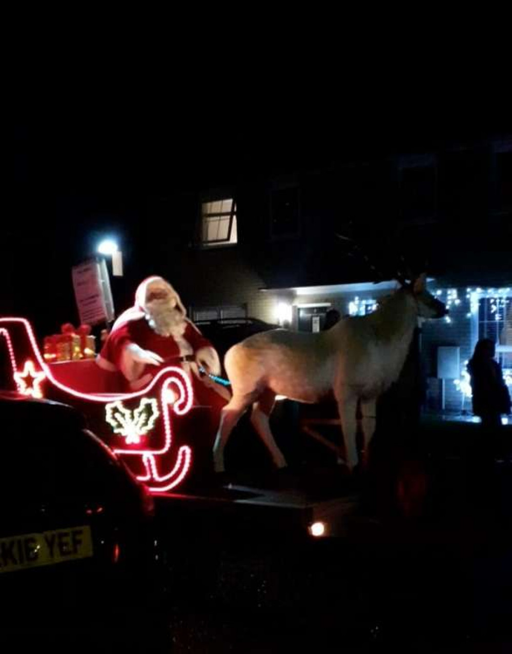
[[[430,220],[436,215],[437,168],[434,156],[402,157],[398,163],[400,217]]]

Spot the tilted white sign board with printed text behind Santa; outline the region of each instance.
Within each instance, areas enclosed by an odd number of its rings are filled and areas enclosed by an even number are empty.
[[[82,324],[95,325],[114,320],[114,304],[104,260],[74,266],[72,279]]]

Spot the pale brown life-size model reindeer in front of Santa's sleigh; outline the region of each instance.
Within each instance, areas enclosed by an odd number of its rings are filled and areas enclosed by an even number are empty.
[[[225,356],[232,398],[221,413],[214,467],[223,472],[223,451],[240,416],[252,405],[251,422],[278,468],[286,461],[270,431],[276,395],[315,403],[334,395],[345,438],[349,470],[358,462],[356,411],[360,401],[364,451],[373,436],[376,400],[398,379],[417,318],[447,313],[420,275],[363,317],[343,318],[316,334],[272,330],[234,345]]]

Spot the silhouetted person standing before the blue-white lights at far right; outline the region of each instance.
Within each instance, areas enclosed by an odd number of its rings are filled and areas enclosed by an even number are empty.
[[[494,360],[494,342],[482,338],[468,363],[473,391],[473,413],[482,419],[487,432],[495,434],[502,426],[502,415],[510,413],[510,394],[502,367]]]

